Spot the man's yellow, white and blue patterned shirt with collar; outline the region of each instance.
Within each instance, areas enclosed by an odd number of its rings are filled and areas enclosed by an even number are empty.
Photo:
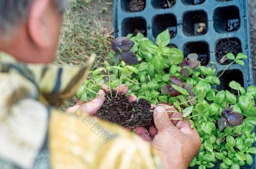
[[[152,146],[118,125],[52,105],[91,68],[18,63],[0,53],[0,168],[156,169]]]

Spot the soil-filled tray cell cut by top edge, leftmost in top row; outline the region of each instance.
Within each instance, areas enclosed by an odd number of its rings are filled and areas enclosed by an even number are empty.
[[[146,7],[146,0],[121,0],[121,8],[125,12],[140,12]]]

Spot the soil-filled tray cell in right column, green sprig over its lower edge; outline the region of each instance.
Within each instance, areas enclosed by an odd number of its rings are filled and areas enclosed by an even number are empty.
[[[216,57],[219,64],[227,65],[230,64],[232,61],[227,60],[225,55],[227,53],[232,53],[233,55],[237,55],[238,53],[242,52],[241,42],[238,38],[227,38],[219,40],[216,45]]]

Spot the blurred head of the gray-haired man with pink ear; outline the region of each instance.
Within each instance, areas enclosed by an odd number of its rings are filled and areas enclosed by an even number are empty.
[[[0,0],[0,50],[25,63],[54,59],[66,0]]]

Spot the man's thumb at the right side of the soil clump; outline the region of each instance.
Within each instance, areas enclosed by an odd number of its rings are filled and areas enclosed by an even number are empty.
[[[158,132],[165,131],[170,125],[173,126],[166,112],[165,106],[158,105],[154,109],[154,123]]]

